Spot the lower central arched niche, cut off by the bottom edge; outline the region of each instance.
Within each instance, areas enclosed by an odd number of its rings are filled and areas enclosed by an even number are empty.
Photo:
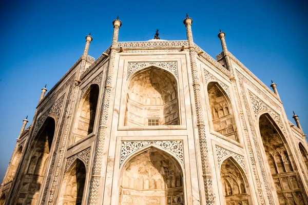
[[[150,147],[123,166],[119,204],[184,204],[183,172],[171,155]]]

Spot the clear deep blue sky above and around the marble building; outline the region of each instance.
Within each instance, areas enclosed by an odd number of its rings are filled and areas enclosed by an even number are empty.
[[[123,22],[120,41],[186,39],[183,18],[194,19],[195,43],[215,57],[217,34],[228,50],[266,85],[277,83],[288,119],[292,110],[308,134],[307,1],[7,1],[0,19],[0,180],[23,119],[31,124],[41,88],[63,76],[83,52],[98,58],[111,44],[112,20]]]

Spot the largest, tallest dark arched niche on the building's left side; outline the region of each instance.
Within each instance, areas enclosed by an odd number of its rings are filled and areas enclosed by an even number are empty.
[[[41,129],[35,136],[29,149],[28,162],[22,183],[18,190],[17,204],[36,204],[38,194],[47,170],[47,163],[52,147],[55,131],[55,121],[47,117]]]

